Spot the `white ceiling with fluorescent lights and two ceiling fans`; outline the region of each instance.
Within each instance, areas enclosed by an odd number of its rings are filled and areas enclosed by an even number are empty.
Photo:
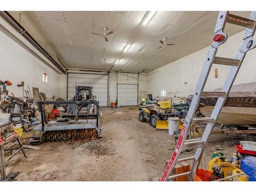
[[[114,60],[120,61],[113,70],[150,72],[169,62],[211,44],[216,24],[216,11],[158,11],[142,25],[146,11],[10,11],[27,31],[67,68],[109,70]],[[249,11],[232,11],[244,17]],[[115,30],[109,41],[91,34],[103,33],[102,28]],[[229,35],[244,28],[227,24]],[[168,38],[174,46],[161,46]],[[132,44],[127,52],[123,48]],[[57,59],[56,59],[57,60]]]

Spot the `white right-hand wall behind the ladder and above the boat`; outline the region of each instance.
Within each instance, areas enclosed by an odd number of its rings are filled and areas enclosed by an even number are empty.
[[[227,41],[218,48],[217,56],[234,58],[242,45],[243,34],[244,31],[228,37]],[[167,96],[186,97],[193,94],[208,49],[209,47],[206,47],[148,73],[147,93],[152,93],[153,97],[160,96],[161,90],[166,90],[169,93]],[[218,78],[215,78],[215,68],[218,69]],[[204,91],[221,88],[229,69],[229,66],[212,65]],[[252,81],[256,81],[256,49],[247,52],[234,84]]]

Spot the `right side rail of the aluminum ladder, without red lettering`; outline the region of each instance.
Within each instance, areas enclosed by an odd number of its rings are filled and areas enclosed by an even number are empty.
[[[250,18],[253,20],[256,20],[256,11],[251,12]],[[248,31],[251,31],[250,32],[251,36],[247,36],[247,38],[243,39],[243,45],[241,46],[241,48],[238,51],[238,54],[236,56],[236,59],[240,60],[240,64],[238,66],[231,67],[231,69],[229,71],[229,74],[228,74],[226,81],[224,83],[224,86],[222,88],[222,92],[226,92],[227,94],[225,97],[218,98],[218,100],[216,102],[215,108],[212,111],[211,116],[210,116],[212,119],[215,119],[215,121],[213,123],[208,123],[206,125],[204,134],[201,139],[204,142],[207,142],[209,135],[211,134],[212,130],[214,129],[214,126],[217,122],[217,119],[221,112],[223,104],[225,103],[226,98],[228,97],[228,93],[232,87],[234,80],[236,79],[236,76],[237,76],[239,69],[242,65],[242,62],[245,58],[246,52],[251,49],[254,49],[256,47],[256,40],[252,38],[252,36],[254,35],[254,32],[255,32],[255,28],[256,27],[254,27],[254,29],[246,28],[246,32],[245,32],[244,36],[246,36],[248,34]],[[194,156],[194,162],[193,162],[193,165],[191,166],[191,172],[189,174],[190,181],[193,180],[193,176],[195,175],[196,169],[198,168],[199,162],[200,162],[202,154],[203,154],[203,150],[204,150],[204,147],[197,148],[197,151]]]

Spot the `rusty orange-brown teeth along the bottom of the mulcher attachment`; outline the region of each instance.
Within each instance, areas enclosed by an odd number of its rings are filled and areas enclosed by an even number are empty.
[[[42,134],[41,142],[62,141],[62,140],[95,140],[98,138],[96,129],[79,129],[79,130],[58,130],[46,131]]]

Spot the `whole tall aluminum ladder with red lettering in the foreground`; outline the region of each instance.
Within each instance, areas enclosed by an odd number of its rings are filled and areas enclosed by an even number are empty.
[[[236,55],[236,58],[234,59],[216,57],[217,48],[221,44],[223,44],[227,39],[227,34],[223,32],[223,29],[225,28],[226,23],[246,27],[246,31],[243,36],[243,45],[239,49]],[[230,14],[228,11],[219,12],[217,24],[214,30],[214,38],[209,48],[208,54],[206,56],[206,60],[204,62],[204,66],[197,83],[193,100],[191,101],[187,116],[183,121],[183,127],[181,130],[177,145],[173,152],[173,155],[170,158],[160,181],[168,181],[170,179],[173,179],[179,176],[184,176],[184,175],[189,175],[189,181],[193,181],[196,169],[199,166],[199,163],[201,161],[201,158],[204,152],[205,143],[207,142],[207,139],[209,138],[212,130],[215,127],[215,124],[221,112],[222,106],[225,103],[225,100],[232,87],[234,79],[238,74],[240,66],[245,58],[246,52],[256,47],[256,40],[252,38],[255,32],[255,25],[256,25],[256,11],[251,12],[249,19]],[[221,92],[203,92],[212,63],[232,66]],[[197,106],[201,97],[218,97],[218,100],[216,102],[215,108],[212,111],[210,117],[194,118],[194,114],[196,113]],[[202,135],[202,138],[186,140],[187,135],[189,133],[190,125],[195,123],[207,124],[205,127],[205,131]],[[195,155],[193,157],[179,159],[181,151],[187,148],[197,148]],[[190,172],[170,176],[175,164],[181,161],[186,161],[186,160],[193,160],[193,164],[191,166]]]

